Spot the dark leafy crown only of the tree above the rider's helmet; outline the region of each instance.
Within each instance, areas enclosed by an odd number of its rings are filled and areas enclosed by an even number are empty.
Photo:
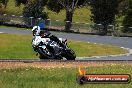
[[[45,1],[47,0],[28,0],[23,9],[23,16],[46,19],[48,15],[43,12],[44,6],[47,4]]]

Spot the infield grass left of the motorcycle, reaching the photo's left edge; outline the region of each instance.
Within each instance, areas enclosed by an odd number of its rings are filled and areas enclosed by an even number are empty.
[[[31,36],[0,34],[0,58],[35,58]]]

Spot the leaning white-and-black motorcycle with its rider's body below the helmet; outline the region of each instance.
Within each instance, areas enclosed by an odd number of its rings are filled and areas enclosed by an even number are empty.
[[[52,35],[48,38],[35,36],[32,40],[34,51],[39,54],[40,59],[58,59],[66,58],[67,60],[75,60],[75,52],[68,47],[67,40],[62,40]]]

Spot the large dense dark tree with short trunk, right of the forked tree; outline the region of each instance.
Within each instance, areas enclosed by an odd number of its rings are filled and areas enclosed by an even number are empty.
[[[91,20],[103,25],[103,34],[107,34],[109,24],[114,24],[117,14],[118,0],[91,0]]]

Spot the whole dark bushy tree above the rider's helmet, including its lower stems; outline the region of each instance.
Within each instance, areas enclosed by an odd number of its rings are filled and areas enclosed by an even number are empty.
[[[27,25],[31,25],[31,19],[34,25],[36,25],[37,18],[47,19],[48,15],[44,12],[44,6],[47,5],[47,0],[15,0],[16,6],[24,4],[23,16]],[[33,17],[30,19],[30,17]]]

